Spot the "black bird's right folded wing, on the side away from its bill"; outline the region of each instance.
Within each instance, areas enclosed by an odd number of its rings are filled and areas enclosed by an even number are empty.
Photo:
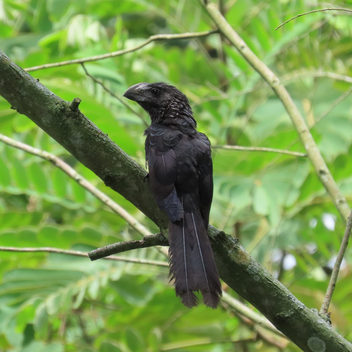
[[[213,162],[210,142],[204,133],[197,132],[191,139],[199,170],[199,208],[205,228],[209,224],[209,212],[213,199]]]

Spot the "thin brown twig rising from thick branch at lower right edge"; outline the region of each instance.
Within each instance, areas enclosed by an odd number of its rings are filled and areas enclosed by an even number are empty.
[[[335,261],[335,264],[334,264],[334,268],[332,270],[332,274],[331,274],[331,277],[330,277],[330,282],[329,282],[329,285],[328,285],[328,289],[326,291],[326,296],[325,296],[323,304],[322,304],[322,306],[320,308],[320,313],[321,314],[327,314],[327,312],[328,312],[329,305],[330,305],[330,302],[331,302],[331,297],[332,297],[332,295],[334,293],[336,282],[337,282],[337,277],[339,275],[342,259],[344,258],[344,255],[345,255],[345,252],[346,252],[346,248],[347,248],[347,245],[348,245],[348,239],[350,238],[351,228],[352,228],[352,210],[351,210],[350,216],[348,216],[344,237],[342,238],[342,242],[341,242],[341,246],[340,246],[340,249],[339,249],[339,253],[337,254],[337,258],[336,258],[336,261]]]

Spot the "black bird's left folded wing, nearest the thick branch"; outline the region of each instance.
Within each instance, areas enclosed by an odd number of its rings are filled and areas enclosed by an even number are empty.
[[[177,160],[173,147],[180,132],[165,126],[151,125],[146,139],[146,159],[149,166],[150,186],[159,207],[171,221],[183,218],[183,208],[174,183],[177,178]]]

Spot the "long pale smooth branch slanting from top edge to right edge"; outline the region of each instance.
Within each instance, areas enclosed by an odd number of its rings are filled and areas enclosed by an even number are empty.
[[[266,82],[268,82],[278,98],[282,101],[283,106],[285,107],[298,135],[301,138],[302,144],[307,151],[308,157],[314,166],[316,174],[320,178],[320,181],[325,187],[327,193],[331,196],[331,199],[339,211],[342,219],[347,221],[348,214],[350,214],[350,207],[334,181],[331,172],[321,156],[318,146],[316,145],[315,140],[306,125],[306,122],[304,121],[286,88],[274,72],[272,72],[269,67],[266,66],[254,54],[253,51],[251,51],[244,40],[237,34],[237,32],[233,30],[230,24],[228,24],[226,19],[221,15],[215,4],[204,0],[200,1],[206,8],[214,23],[218,26],[220,32],[226,36],[226,38],[240,52],[246,61],[252,65],[252,67],[263,77]]]

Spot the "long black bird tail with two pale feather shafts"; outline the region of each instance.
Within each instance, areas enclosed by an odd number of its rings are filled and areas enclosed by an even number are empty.
[[[169,222],[170,277],[176,296],[186,307],[197,306],[200,291],[206,306],[216,308],[221,284],[214,254],[199,210],[184,212],[183,219]]]

